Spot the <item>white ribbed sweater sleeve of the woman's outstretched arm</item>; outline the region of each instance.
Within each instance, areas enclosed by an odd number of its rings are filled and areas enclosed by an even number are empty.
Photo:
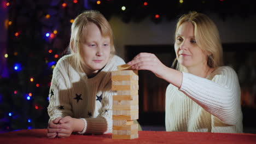
[[[234,125],[240,110],[240,85],[235,71],[221,67],[212,81],[183,73],[179,88],[206,111],[219,118],[223,123]]]

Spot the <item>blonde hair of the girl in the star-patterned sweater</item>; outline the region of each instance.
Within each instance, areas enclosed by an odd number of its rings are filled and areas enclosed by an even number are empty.
[[[79,14],[72,23],[71,38],[68,47],[69,53],[74,54],[74,65],[79,70],[83,70],[84,54],[82,45],[86,40],[86,28],[90,22],[94,23],[100,29],[102,37],[109,37],[110,58],[115,55],[113,31],[106,18],[96,10],[84,11],[82,14]]]

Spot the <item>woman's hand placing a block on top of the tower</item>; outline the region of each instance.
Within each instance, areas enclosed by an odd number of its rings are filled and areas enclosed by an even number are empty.
[[[150,70],[161,79],[165,76],[167,67],[153,53],[139,53],[127,63],[135,70]]]

